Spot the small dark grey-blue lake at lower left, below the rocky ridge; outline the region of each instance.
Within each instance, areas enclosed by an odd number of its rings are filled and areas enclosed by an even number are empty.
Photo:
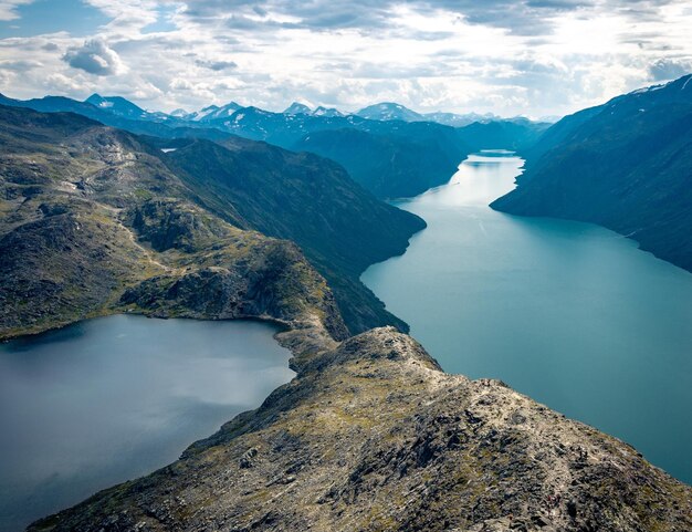
[[[260,322],[116,315],[0,344],[0,530],[176,460],[289,382]]]

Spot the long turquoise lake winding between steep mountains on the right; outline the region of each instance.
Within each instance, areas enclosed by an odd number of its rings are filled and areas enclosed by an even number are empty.
[[[363,281],[450,373],[513,388],[692,483],[692,274],[598,226],[495,212],[523,160],[395,202],[428,228]]]

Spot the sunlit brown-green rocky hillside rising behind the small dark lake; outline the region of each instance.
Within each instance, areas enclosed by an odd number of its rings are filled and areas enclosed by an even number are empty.
[[[2,106],[0,124],[0,338],[114,312],[347,335],[295,244],[200,208],[139,138]]]

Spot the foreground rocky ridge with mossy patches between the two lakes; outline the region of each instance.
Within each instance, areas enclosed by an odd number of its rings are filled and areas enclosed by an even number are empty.
[[[688,531],[692,489],[379,328],[318,356],[174,465],[32,531]]]

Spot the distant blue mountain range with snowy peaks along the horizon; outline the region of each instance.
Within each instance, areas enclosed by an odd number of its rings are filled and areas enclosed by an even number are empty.
[[[359,185],[380,198],[415,196],[441,185],[470,152],[482,148],[522,150],[547,127],[545,123],[527,119],[490,117],[484,117],[482,123],[452,127],[398,104],[374,106],[379,111],[387,106],[394,109],[391,112],[377,114],[364,109],[352,115],[333,108],[311,109],[298,103],[283,113],[272,113],[253,106],[242,107],[234,102],[195,113],[179,109],[167,115],[144,111],[122,97],[97,94],[85,102],[57,96],[18,101],[0,95],[0,104],[78,113],[106,125],[156,137],[218,140],[232,134],[286,149],[310,150],[342,164]],[[449,124],[465,123],[465,118],[457,121],[455,115],[437,116]],[[471,128],[466,131],[468,127]],[[350,140],[355,145],[344,144]],[[363,160],[357,154],[366,146],[368,158]]]

